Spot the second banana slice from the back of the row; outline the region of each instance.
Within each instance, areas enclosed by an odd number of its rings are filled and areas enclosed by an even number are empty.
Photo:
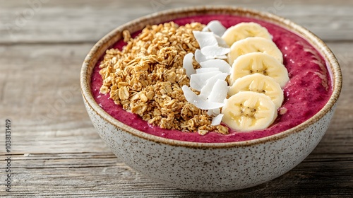
[[[234,42],[228,53],[228,63],[233,64],[237,57],[251,52],[263,52],[275,57],[280,63],[283,63],[282,52],[272,40],[263,37],[248,37]]]

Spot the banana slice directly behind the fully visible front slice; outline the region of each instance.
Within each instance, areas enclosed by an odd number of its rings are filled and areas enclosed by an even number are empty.
[[[263,93],[271,98],[277,110],[283,103],[283,91],[280,85],[271,77],[263,74],[251,74],[234,81],[229,88],[228,94],[234,95],[240,91],[254,91]]]

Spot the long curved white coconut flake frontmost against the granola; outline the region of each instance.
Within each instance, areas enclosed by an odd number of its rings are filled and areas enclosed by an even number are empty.
[[[220,108],[225,105],[224,103],[213,103],[209,100],[203,100],[202,98],[198,97],[196,93],[193,93],[193,91],[191,91],[188,86],[183,86],[181,89],[184,92],[186,100],[188,100],[189,103],[195,105],[201,110]]]

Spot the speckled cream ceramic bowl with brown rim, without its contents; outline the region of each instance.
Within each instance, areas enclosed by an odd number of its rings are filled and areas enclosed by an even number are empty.
[[[251,141],[195,143],[165,139],[140,132],[115,120],[95,102],[90,92],[93,67],[121,32],[141,30],[174,18],[200,14],[232,14],[269,21],[301,35],[327,59],[333,94],[311,119],[285,132]],[[88,115],[97,132],[126,165],[165,185],[185,190],[222,192],[253,187],[294,168],[313,151],[328,129],[340,95],[342,74],[333,53],[316,35],[270,13],[245,8],[203,6],[163,11],[119,26],[90,50],[80,73],[80,86]]]

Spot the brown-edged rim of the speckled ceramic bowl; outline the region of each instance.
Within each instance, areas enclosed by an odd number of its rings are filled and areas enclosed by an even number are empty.
[[[302,122],[296,127],[292,127],[291,129],[287,129],[286,131],[273,134],[270,136],[265,136],[260,139],[251,139],[248,141],[234,141],[234,142],[225,142],[225,143],[203,143],[203,142],[192,142],[192,141],[180,141],[174,139],[167,139],[160,136],[155,136],[152,134],[148,134],[145,132],[141,132],[133,127],[129,127],[128,125],[119,122],[114,117],[105,112],[100,105],[98,105],[95,99],[92,96],[90,91],[90,79],[92,75],[92,70],[94,66],[97,64],[99,58],[104,54],[105,50],[108,49],[111,45],[114,44],[119,38],[121,38],[122,30],[126,28],[139,28],[141,30],[145,27],[143,24],[147,24],[148,21],[157,20],[162,23],[163,21],[168,21],[165,18],[179,18],[177,16],[184,15],[186,16],[196,16],[201,14],[212,14],[212,13],[224,13],[224,14],[233,14],[236,16],[246,16],[250,18],[257,18],[269,23],[274,23],[275,25],[280,25],[282,28],[287,28],[292,32],[304,37],[311,45],[316,47],[316,50],[321,53],[321,55],[325,58],[326,64],[328,65],[328,70],[330,73],[330,77],[333,84],[333,93],[330,95],[328,102],[325,106],[317,112],[313,117],[310,117],[309,120]],[[177,16],[176,16],[177,15]],[[163,18],[163,19],[161,19]],[[114,41],[116,40],[116,41]],[[114,41],[114,42],[112,42]],[[90,69],[91,67],[91,69]],[[185,8],[173,8],[167,11],[160,11],[157,13],[152,13],[147,16],[143,16],[140,18],[136,18],[133,21],[128,23],[124,23],[119,27],[112,30],[110,33],[107,33],[102,39],[100,39],[90,50],[90,52],[85,57],[83,62],[81,71],[80,71],[80,89],[83,95],[83,100],[90,107],[91,110],[95,112],[95,114],[100,115],[102,119],[110,124],[114,125],[122,129],[122,131],[132,134],[133,136],[138,136],[142,139],[146,139],[148,141],[153,141],[157,144],[169,144],[171,146],[183,146],[190,148],[230,148],[230,147],[240,147],[240,146],[253,146],[256,144],[264,144],[268,141],[276,141],[277,139],[283,139],[290,134],[295,134],[303,131],[306,127],[309,127],[311,124],[314,124],[318,120],[320,120],[325,114],[327,114],[331,109],[335,107],[335,103],[337,102],[340,91],[342,89],[342,72],[340,66],[335,58],[333,52],[329,49],[329,47],[321,40],[319,37],[311,33],[311,31],[306,28],[297,25],[292,21],[289,21],[286,18],[282,18],[280,16],[276,16],[273,13],[266,13],[263,11],[257,11],[250,8],[242,8],[239,6],[191,6]],[[118,131],[114,131],[118,132]]]

